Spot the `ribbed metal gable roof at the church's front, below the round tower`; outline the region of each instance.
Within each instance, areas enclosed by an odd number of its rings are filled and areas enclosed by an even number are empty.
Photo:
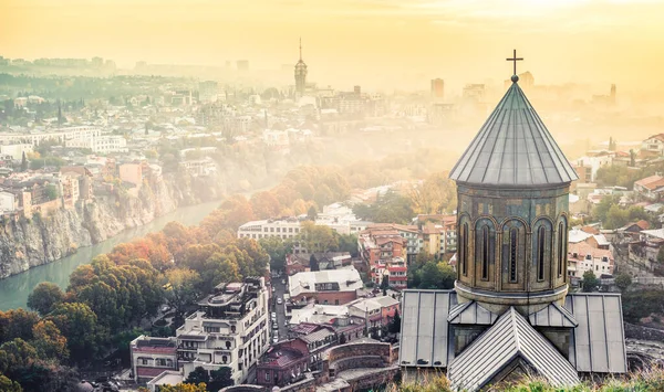
[[[518,359],[556,386],[580,382],[572,364],[513,307],[452,361],[447,377],[453,389],[473,392]]]

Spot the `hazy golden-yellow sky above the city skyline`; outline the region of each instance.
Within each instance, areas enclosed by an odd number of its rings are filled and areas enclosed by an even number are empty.
[[[6,57],[277,68],[298,60],[299,36],[310,80],[343,75],[347,87],[500,81],[513,47],[537,83],[664,85],[664,1],[0,0]]]

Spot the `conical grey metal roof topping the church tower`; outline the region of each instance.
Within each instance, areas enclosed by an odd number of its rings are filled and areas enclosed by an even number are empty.
[[[512,83],[449,178],[477,184],[527,187],[562,184],[578,176],[518,83]]]

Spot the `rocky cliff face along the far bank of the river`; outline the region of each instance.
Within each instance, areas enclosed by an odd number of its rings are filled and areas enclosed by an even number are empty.
[[[125,229],[149,223],[178,206],[218,200],[217,177],[165,174],[144,184],[136,195],[97,197],[73,210],[58,210],[31,220],[0,223],[0,279],[65,257],[81,246],[110,239]]]

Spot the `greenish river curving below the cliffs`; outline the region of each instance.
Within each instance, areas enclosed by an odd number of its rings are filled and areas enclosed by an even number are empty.
[[[98,254],[108,253],[123,242],[129,242],[147,233],[158,232],[168,222],[177,221],[185,225],[198,224],[212,210],[219,206],[220,201],[179,208],[164,216],[159,216],[148,224],[125,230],[116,236],[98,244],[81,247],[75,254],[61,258],[50,264],[30,268],[24,273],[10,276],[0,280],[0,310],[25,308],[28,296],[34,286],[41,282],[53,282],[65,289],[69,285],[70,274],[81,264],[87,264]]]

